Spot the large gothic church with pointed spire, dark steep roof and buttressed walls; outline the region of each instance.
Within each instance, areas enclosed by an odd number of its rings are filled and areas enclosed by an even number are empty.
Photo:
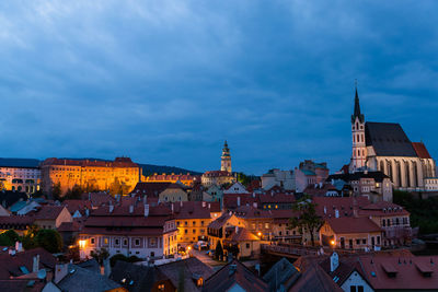
[[[379,171],[394,188],[423,190],[425,179],[436,177],[435,161],[423,142],[411,142],[400,124],[365,121],[356,89],[351,116],[349,172]]]

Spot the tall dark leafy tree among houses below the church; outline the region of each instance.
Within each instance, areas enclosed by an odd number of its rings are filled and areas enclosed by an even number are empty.
[[[299,212],[299,215],[289,219],[289,229],[298,227],[301,230],[301,234],[304,234],[304,231],[309,231],[310,241],[312,246],[314,246],[314,232],[318,231],[323,223],[321,218],[316,214],[315,205],[309,196],[304,196],[292,205],[292,210]]]

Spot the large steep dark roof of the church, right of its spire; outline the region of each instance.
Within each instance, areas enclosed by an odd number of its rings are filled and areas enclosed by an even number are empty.
[[[417,156],[400,124],[367,121],[365,140],[367,147],[372,145],[377,156]]]

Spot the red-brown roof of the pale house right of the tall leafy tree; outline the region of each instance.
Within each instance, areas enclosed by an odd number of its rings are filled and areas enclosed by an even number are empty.
[[[325,219],[325,222],[336,234],[370,233],[382,231],[372,220],[366,217],[328,218]]]

